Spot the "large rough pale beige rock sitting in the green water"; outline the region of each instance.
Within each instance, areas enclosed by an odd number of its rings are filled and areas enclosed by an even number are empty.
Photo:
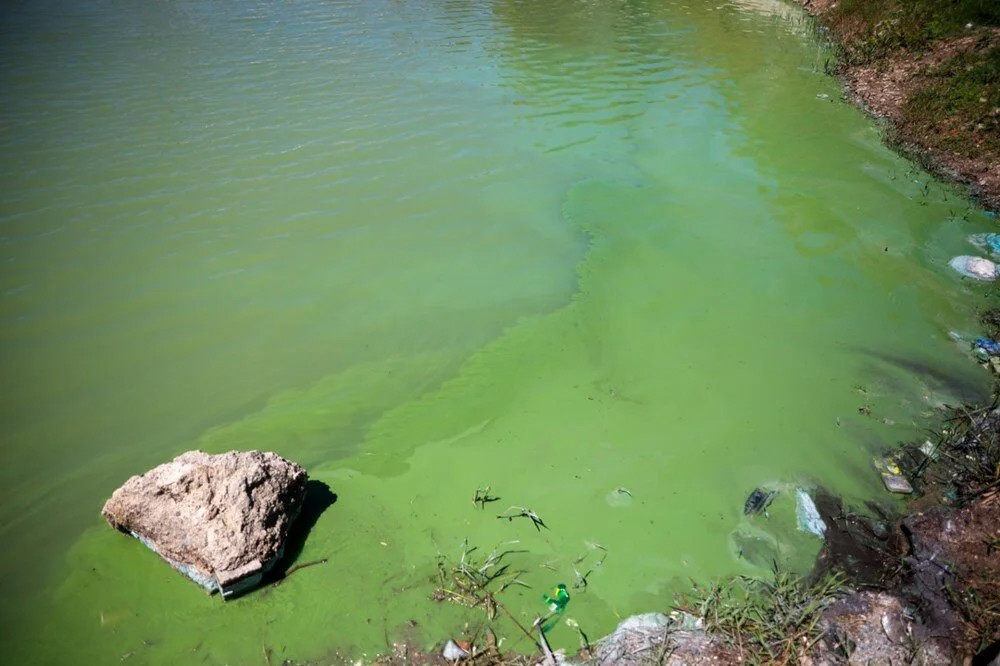
[[[308,477],[275,453],[188,451],[133,476],[102,513],[174,568],[223,597],[280,559]]]

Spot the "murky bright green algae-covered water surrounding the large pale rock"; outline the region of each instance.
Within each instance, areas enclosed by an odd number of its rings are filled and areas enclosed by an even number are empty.
[[[430,646],[483,622],[431,599],[463,544],[591,638],[804,570],[750,491],[891,501],[872,455],[988,384],[946,264],[992,223],[828,57],[769,0],[4,7],[4,660]],[[196,447],[306,466],[336,501],[294,557],[328,562],[223,603],[103,524]]]

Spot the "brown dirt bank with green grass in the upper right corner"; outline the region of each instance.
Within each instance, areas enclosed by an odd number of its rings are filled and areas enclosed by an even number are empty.
[[[848,97],[887,140],[1000,209],[1000,3],[795,0],[837,48]]]

